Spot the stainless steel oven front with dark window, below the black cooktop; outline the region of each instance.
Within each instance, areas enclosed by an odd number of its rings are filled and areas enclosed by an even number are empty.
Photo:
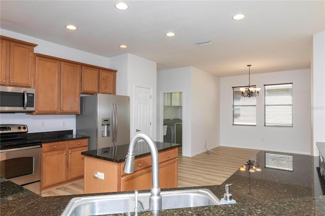
[[[1,177],[41,194],[41,146],[5,150],[0,160]]]

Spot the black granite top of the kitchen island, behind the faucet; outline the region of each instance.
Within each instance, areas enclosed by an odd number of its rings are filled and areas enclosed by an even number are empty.
[[[170,149],[177,148],[179,144],[169,143],[169,142],[154,142],[156,144],[158,152],[166,151]],[[125,160],[125,156],[128,151],[128,144],[121,146],[114,146],[104,149],[90,150],[87,152],[82,152],[84,156],[98,158],[106,161],[112,161],[115,163],[120,163]],[[140,141],[135,147],[135,158],[150,155],[150,148],[145,141]]]

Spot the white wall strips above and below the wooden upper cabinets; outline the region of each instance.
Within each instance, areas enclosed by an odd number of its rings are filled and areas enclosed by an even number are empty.
[[[29,37],[24,34],[0,29],[1,35],[38,44],[35,47],[35,53],[46,54],[63,59],[83,62],[96,66],[108,67],[109,59],[103,56],[94,55],[84,51],[72,49],[69,47],[54,44],[48,41],[43,41],[37,38]],[[74,130],[76,132],[76,117],[75,115],[41,115],[31,116],[26,114],[0,114],[1,124],[26,124],[28,132],[45,132],[56,130]],[[66,126],[62,126],[62,122],[66,122]],[[41,122],[45,122],[45,127],[41,127]]]

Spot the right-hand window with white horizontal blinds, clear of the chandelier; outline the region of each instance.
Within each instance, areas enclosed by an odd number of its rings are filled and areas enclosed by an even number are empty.
[[[264,125],[293,126],[293,84],[264,85]]]

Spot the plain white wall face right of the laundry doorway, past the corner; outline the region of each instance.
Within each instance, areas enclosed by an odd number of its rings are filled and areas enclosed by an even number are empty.
[[[220,146],[219,77],[191,67],[191,156]]]

